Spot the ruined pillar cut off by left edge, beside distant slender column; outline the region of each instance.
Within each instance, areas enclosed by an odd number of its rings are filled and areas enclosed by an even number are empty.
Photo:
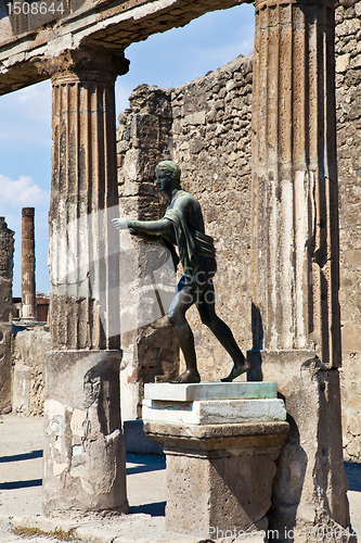
[[[11,412],[14,232],[0,217],[0,414]]]

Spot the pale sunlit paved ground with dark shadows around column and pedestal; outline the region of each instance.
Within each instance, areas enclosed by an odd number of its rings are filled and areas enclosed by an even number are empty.
[[[361,466],[346,464],[351,523],[361,533]],[[41,516],[42,419],[13,415],[0,417],[0,543],[46,543],[57,538],[15,535],[16,526],[52,532],[60,526],[91,543],[195,543],[165,532],[165,460],[155,455],[127,455],[127,490],[130,512],[117,518],[48,520]],[[9,517],[12,517],[11,523]],[[214,538],[212,538],[214,539]],[[225,541],[225,540],[224,540]],[[230,540],[228,540],[230,541]],[[248,539],[245,541],[249,541]],[[254,543],[262,538],[254,536]]]

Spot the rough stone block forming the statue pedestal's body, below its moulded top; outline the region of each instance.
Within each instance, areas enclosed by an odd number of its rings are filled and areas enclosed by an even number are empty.
[[[240,532],[268,526],[273,454],[167,452],[166,526],[170,531]],[[232,454],[233,453],[233,454]],[[238,454],[237,454],[238,453]],[[266,526],[263,525],[266,522]]]

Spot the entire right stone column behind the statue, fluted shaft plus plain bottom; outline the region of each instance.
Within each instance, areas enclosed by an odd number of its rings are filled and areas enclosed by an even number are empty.
[[[328,371],[341,361],[334,58],[332,0],[256,2],[249,378],[276,380],[292,417],[273,492],[280,528],[349,523]]]

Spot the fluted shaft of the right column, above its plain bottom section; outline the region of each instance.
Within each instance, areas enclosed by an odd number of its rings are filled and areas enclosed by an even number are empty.
[[[268,350],[340,365],[332,0],[256,2],[254,303]]]

